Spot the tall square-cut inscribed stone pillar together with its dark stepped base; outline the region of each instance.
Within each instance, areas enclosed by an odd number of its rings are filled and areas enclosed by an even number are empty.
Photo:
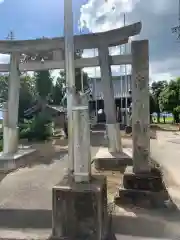
[[[165,197],[160,170],[150,160],[149,46],[148,40],[132,42],[132,158],[123,177],[120,199],[162,206]]]

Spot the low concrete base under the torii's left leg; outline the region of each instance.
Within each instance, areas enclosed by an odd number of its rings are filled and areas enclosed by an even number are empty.
[[[26,165],[28,158],[32,158],[35,149],[24,147],[18,149],[14,154],[0,153],[0,171],[8,172]]]

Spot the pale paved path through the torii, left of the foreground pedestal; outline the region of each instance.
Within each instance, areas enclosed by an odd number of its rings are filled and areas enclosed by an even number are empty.
[[[98,137],[92,136],[92,156]],[[95,141],[96,139],[96,141]],[[46,154],[45,154],[46,155]],[[67,155],[53,161],[40,159],[35,165],[18,169],[0,181],[0,239],[48,239],[52,225],[52,187],[67,168]]]

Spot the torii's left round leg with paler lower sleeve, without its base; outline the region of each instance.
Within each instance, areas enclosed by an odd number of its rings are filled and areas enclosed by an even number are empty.
[[[19,111],[19,54],[12,53],[9,69],[8,89],[8,153],[15,153],[18,149],[18,111]]]

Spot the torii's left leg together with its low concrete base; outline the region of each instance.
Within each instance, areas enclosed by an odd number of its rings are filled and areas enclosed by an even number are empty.
[[[0,170],[4,172],[24,166],[27,160],[26,157],[36,152],[36,150],[32,148],[19,149],[18,147],[18,113],[20,95],[19,57],[20,53],[11,53],[8,101],[4,104],[3,109],[3,151],[0,153]]]

